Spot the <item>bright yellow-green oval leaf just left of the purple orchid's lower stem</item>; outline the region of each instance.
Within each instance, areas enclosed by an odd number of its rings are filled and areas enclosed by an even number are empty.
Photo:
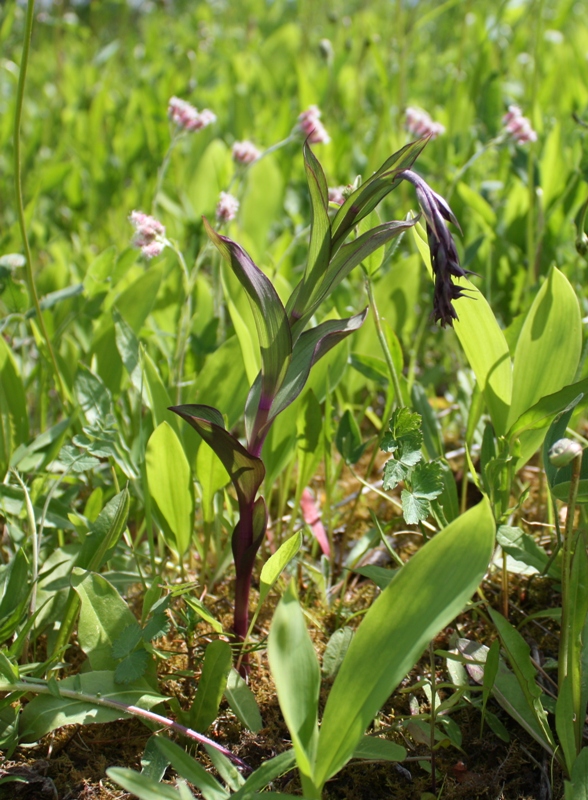
[[[145,462],[149,493],[157,506],[166,544],[182,556],[192,539],[194,492],[184,448],[167,422],[149,437]]]

